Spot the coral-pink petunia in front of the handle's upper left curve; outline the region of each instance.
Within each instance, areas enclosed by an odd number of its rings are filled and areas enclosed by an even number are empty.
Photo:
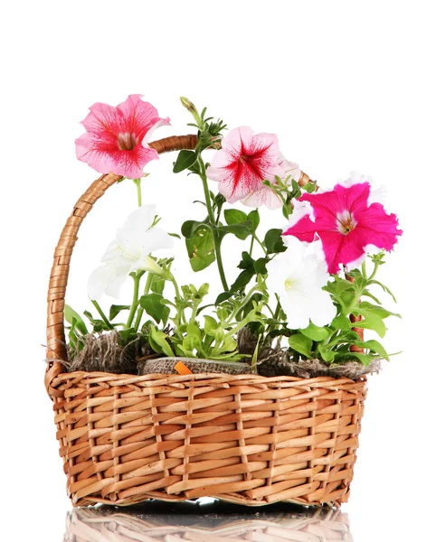
[[[151,104],[132,94],[117,107],[97,103],[82,125],[86,134],[76,139],[76,155],[100,173],[117,173],[130,179],[144,175],[144,166],[158,158],[147,145],[157,126],[169,124]]]

